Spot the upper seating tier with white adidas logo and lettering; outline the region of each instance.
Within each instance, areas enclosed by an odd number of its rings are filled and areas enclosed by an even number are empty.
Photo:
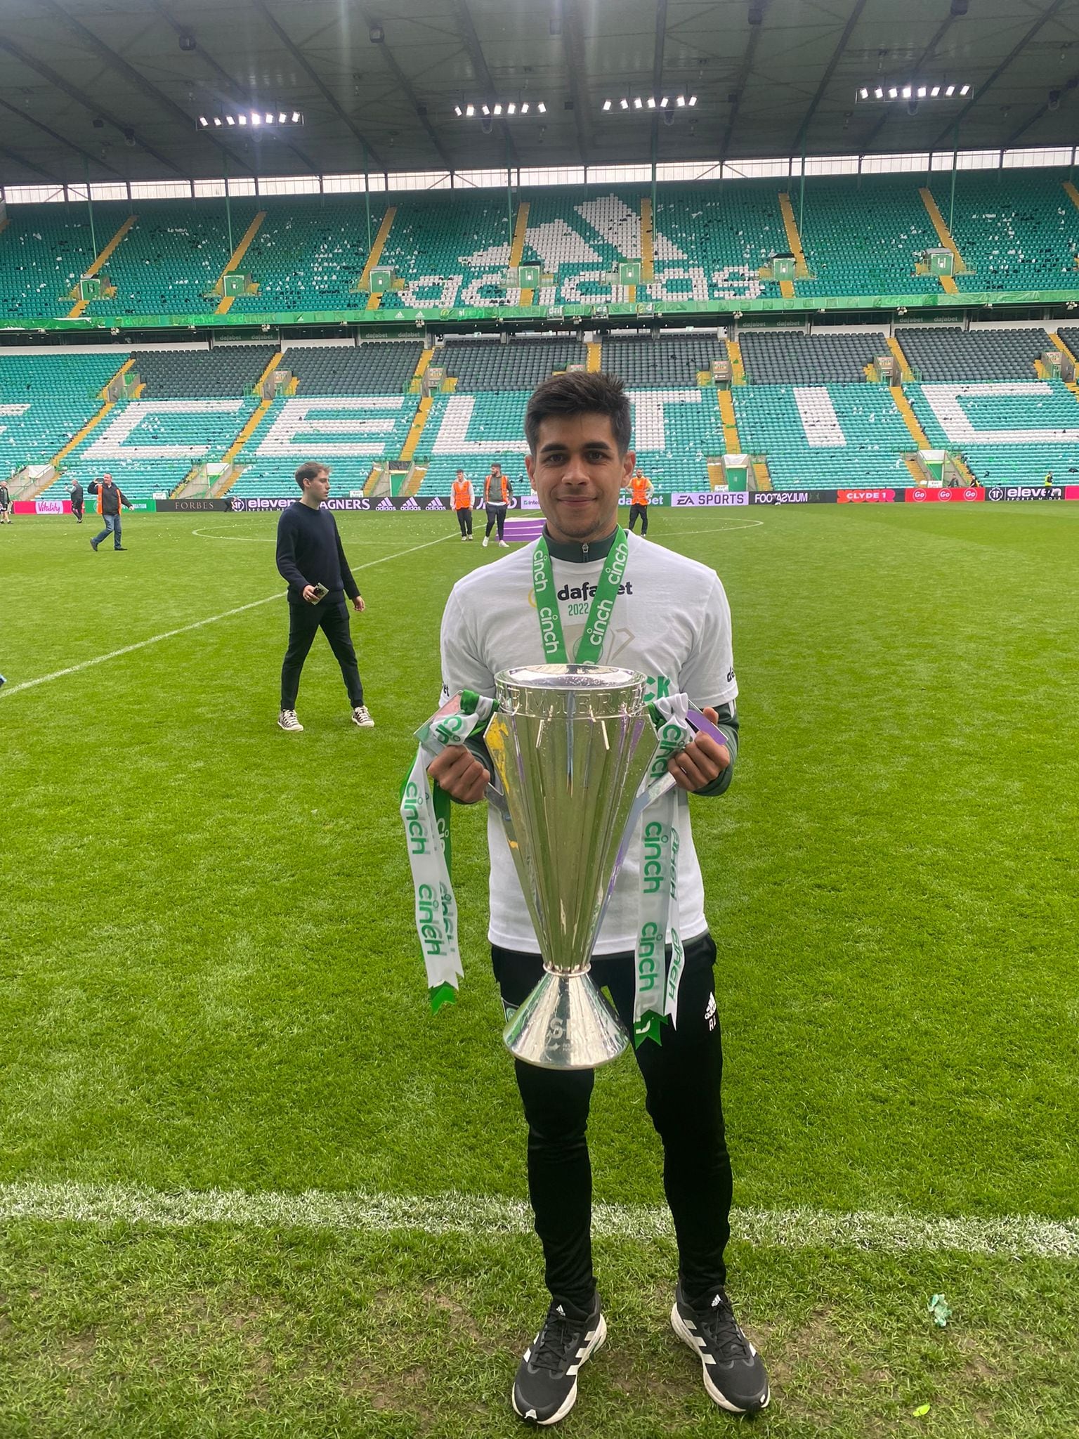
[[[847,308],[1079,291],[1065,170],[9,204],[0,324]],[[790,191],[790,193],[788,193]],[[370,207],[368,207],[370,206]],[[961,296],[957,298],[957,296]],[[554,311],[554,317],[551,317]],[[375,315],[377,312],[377,315]]]

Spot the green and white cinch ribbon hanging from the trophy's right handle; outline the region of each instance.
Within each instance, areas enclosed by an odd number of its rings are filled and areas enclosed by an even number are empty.
[[[640,898],[637,940],[634,944],[633,1043],[646,1039],[662,1042],[662,1026],[678,1023],[678,990],[682,983],[685,954],[679,935],[678,908],[678,819],[685,794],[673,780],[663,786],[668,761],[693,737],[686,721],[686,695],[657,699],[656,755],[645,776],[645,791],[659,789],[640,820]],[[666,937],[670,931],[670,966],[665,964]]]

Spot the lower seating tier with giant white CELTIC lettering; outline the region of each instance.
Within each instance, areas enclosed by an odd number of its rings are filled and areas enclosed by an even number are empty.
[[[545,376],[620,374],[660,495],[1067,485],[1079,468],[1079,330],[222,344],[0,353],[0,473],[17,499],[109,471],[131,498],[279,498],[312,453],[344,495],[446,495],[499,460],[522,485]],[[934,469],[934,466],[937,466]]]

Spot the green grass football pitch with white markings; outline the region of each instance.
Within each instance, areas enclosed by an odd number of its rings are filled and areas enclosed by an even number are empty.
[[[338,519],[377,728],[319,639],[296,735],[273,515],[125,517],[124,554],[89,518],[0,528],[3,1439],[516,1433],[545,1297],[483,823],[456,816],[466,977],[432,1016],[396,810],[445,597],[501,551]],[[1079,505],[652,538],[734,612],[738,773],[693,803],[754,1429],[1073,1439]],[[563,1432],[721,1433],[629,1059],[591,1147],[610,1337]]]

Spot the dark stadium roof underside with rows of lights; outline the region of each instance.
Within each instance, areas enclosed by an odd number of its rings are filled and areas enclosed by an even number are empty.
[[[1075,0],[962,10],[967,0],[0,0],[0,183],[216,177],[226,157],[236,176],[355,173],[364,145],[387,171],[632,164],[653,144],[663,161],[1072,145]],[[482,106],[495,104],[488,124]],[[250,108],[258,130],[227,127]]]

